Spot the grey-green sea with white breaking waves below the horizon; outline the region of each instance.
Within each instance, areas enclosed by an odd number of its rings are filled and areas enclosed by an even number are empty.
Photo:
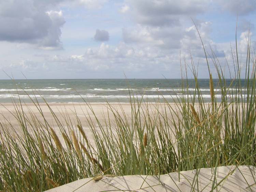
[[[210,99],[209,79],[199,79],[198,83],[205,101]],[[227,84],[230,80],[227,80]],[[215,87],[218,84],[214,79]],[[181,79],[56,79],[56,80],[0,80],[0,103],[12,102],[20,98],[31,102],[29,96],[43,102],[72,103],[83,102],[129,102],[129,94],[135,94],[145,101],[173,102],[181,93]],[[188,80],[191,94],[195,91],[194,80]],[[24,89],[24,90],[23,90]],[[24,92],[26,91],[26,92]],[[221,99],[219,90],[216,97]],[[130,93],[129,93],[130,92]],[[29,96],[28,96],[29,95]],[[82,98],[83,99],[82,99]]]

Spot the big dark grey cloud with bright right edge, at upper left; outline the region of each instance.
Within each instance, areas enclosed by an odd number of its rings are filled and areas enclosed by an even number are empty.
[[[61,11],[49,11],[58,1],[13,0],[0,2],[0,40],[61,48]]]

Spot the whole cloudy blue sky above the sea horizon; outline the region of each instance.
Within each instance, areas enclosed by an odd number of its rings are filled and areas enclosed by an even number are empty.
[[[236,25],[241,66],[256,48],[255,18],[256,0],[0,0],[0,79],[192,77],[191,57],[209,78],[196,27],[214,76]]]

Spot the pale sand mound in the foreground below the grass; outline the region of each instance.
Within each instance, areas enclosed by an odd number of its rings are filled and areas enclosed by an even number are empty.
[[[216,178],[214,169],[202,168],[198,172],[180,172],[180,181],[178,172],[160,175],[159,178],[144,175],[103,176],[99,181],[80,179],[48,191],[211,191],[213,182],[214,186],[218,183],[214,191],[256,191],[255,175],[256,167],[253,166],[222,166],[217,168]]]

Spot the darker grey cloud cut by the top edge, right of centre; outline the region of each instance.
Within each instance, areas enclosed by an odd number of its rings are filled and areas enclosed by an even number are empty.
[[[181,16],[205,11],[209,0],[129,0],[129,13],[137,23],[150,26],[177,25]]]

